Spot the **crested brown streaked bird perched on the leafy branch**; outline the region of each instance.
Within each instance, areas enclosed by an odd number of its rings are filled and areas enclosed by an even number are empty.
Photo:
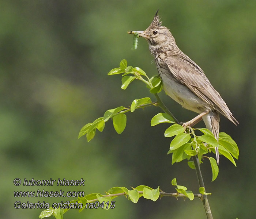
[[[235,125],[239,124],[203,70],[178,48],[170,30],[162,26],[158,10],[146,30],[130,32],[137,32],[139,37],[147,40],[165,93],[183,108],[199,114],[182,123],[183,127],[192,127],[203,119],[206,128],[218,141],[220,114]],[[215,154],[219,164],[218,147],[215,147]]]

